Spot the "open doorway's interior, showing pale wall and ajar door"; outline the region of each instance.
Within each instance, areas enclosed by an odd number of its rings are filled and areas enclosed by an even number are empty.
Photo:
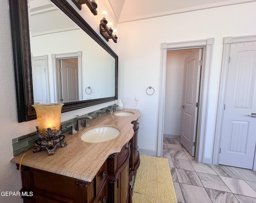
[[[195,155],[202,48],[166,55],[164,137],[177,138]]]

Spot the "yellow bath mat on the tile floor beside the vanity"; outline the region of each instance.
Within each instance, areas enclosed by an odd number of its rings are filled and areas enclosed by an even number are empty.
[[[132,201],[133,203],[177,202],[167,159],[140,155],[140,167],[134,181]]]

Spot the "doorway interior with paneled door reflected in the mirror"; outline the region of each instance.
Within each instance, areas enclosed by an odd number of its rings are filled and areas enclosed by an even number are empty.
[[[79,101],[78,96],[78,60],[61,60],[63,103]]]

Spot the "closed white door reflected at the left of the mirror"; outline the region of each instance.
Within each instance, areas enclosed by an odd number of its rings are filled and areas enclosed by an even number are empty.
[[[32,81],[34,102],[48,103],[48,55],[32,56]]]

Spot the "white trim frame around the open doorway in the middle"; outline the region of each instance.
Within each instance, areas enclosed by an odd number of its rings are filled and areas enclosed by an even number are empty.
[[[212,52],[214,38],[203,40],[192,40],[185,42],[172,42],[161,44],[161,78],[160,78],[160,99],[158,113],[158,145],[157,156],[162,156],[163,134],[164,134],[164,100],[165,100],[165,80],[166,80],[166,55],[169,50],[203,48],[202,69],[200,78],[200,93],[199,93],[199,109],[196,137],[196,152],[195,157],[198,162],[212,163],[211,158],[204,157],[205,135],[207,130],[208,103],[209,103],[209,84],[212,67]]]

